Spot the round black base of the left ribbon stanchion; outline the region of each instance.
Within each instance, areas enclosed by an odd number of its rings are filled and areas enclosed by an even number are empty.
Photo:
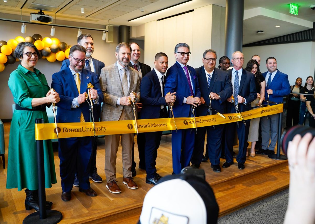
[[[23,220],[23,224],[56,224],[60,222],[62,219],[62,214],[60,211],[56,210],[47,210],[47,218],[46,219],[39,219],[39,211],[34,212],[25,217]]]

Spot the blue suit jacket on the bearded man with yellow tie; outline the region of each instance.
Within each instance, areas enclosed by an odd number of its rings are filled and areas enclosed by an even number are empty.
[[[83,69],[80,85],[81,93],[84,93],[85,91],[88,92],[87,86],[89,83],[94,86],[93,89],[97,90],[97,94],[99,96],[98,105],[100,105],[103,101],[103,94],[102,90],[100,89],[100,82],[97,78],[97,74]],[[56,103],[56,106],[58,107],[56,116],[58,123],[80,122],[81,112],[83,113],[84,120],[88,122],[90,121],[89,104],[86,101],[77,108],[71,107],[73,98],[77,97],[79,92],[77,90],[77,85],[72,76],[70,68],[54,73],[51,87],[54,88],[54,90],[56,90],[60,96],[59,103]],[[94,117],[94,119],[96,122],[97,118]]]

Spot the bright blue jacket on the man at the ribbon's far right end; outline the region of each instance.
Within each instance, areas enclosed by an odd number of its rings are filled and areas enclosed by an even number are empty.
[[[266,83],[268,82],[267,79],[269,78],[269,75],[268,75],[268,78],[266,78],[267,74],[269,74],[269,72],[265,72],[262,74],[266,80]],[[268,97],[267,89],[272,90],[272,94],[269,95],[270,101],[273,101],[276,103],[283,102],[283,97],[286,95],[289,95],[290,93],[290,83],[288,80],[288,75],[280,72],[277,69],[277,73],[275,74],[275,77],[273,77],[272,82],[270,83],[269,87],[268,88],[266,87],[265,99],[267,99]]]

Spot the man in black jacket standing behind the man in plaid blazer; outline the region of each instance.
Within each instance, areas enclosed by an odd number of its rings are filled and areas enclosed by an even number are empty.
[[[135,42],[132,42],[130,43],[130,46],[131,46],[131,57],[130,57],[129,66],[131,68],[135,68],[135,70],[137,70],[140,73],[140,77],[142,79],[142,77],[145,76],[148,72],[151,72],[151,67],[149,65],[139,62],[139,58],[141,55],[139,45]],[[136,105],[138,107],[138,116],[140,117],[142,102],[136,103]],[[144,156],[144,145],[145,145],[144,133],[138,133],[137,145],[138,145],[138,151],[139,151],[139,168],[142,170],[145,170],[146,160]],[[132,167],[131,167],[133,177],[136,175],[136,170],[135,170],[136,165],[137,164],[135,163],[134,146],[133,146],[132,147]]]

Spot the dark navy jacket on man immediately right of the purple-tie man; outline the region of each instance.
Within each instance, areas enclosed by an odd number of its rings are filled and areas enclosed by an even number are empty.
[[[233,92],[229,74],[218,68],[215,68],[213,70],[210,86],[208,88],[208,76],[206,76],[204,67],[201,66],[195,70],[198,77],[201,97],[203,97],[204,101],[206,101],[205,105],[201,104],[196,108],[197,116],[205,116],[207,114],[207,109],[210,104],[209,94],[211,92],[221,96],[221,103],[219,100],[212,100],[211,107],[220,113],[225,113],[226,100],[230,98]]]

